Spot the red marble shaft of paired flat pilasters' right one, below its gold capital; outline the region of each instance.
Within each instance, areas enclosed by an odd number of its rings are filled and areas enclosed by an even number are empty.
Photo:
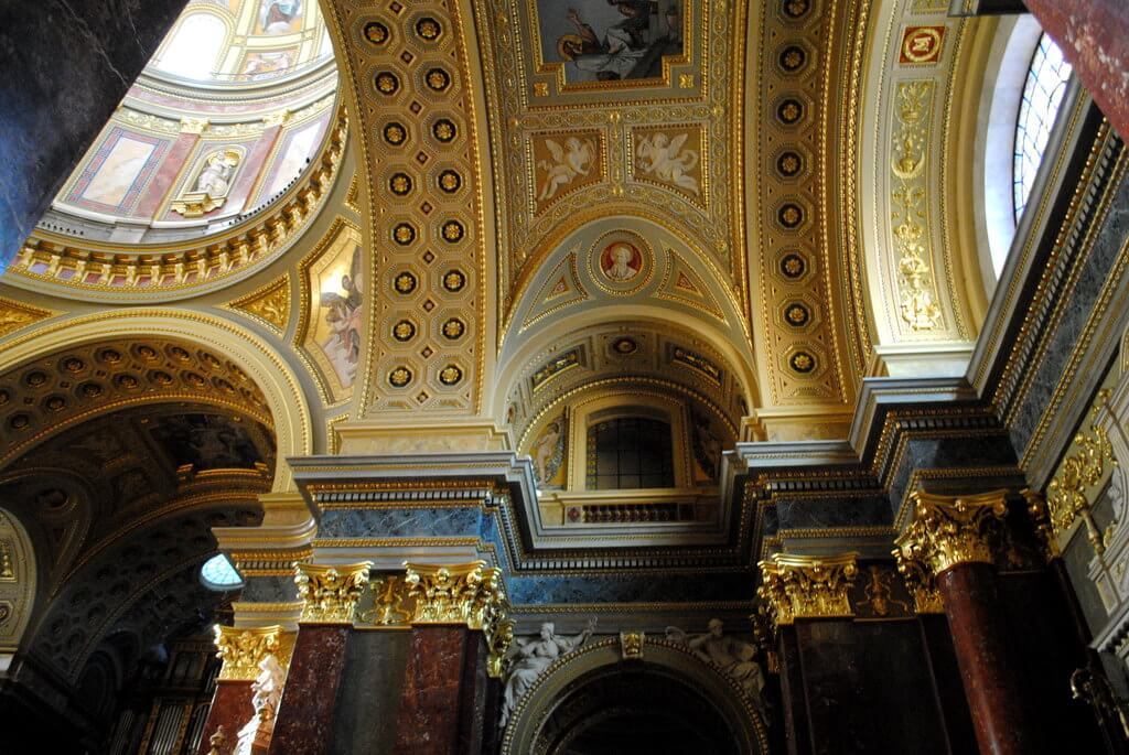
[[[412,627],[412,648],[396,717],[396,755],[482,752],[487,646],[482,632],[457,625]],[[275,735],[277,736],[277,735]]]

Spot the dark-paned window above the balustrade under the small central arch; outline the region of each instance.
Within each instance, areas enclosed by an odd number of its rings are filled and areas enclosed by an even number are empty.
[[[638,416],[588,427],[588,490],[674,488],[671,425]]]

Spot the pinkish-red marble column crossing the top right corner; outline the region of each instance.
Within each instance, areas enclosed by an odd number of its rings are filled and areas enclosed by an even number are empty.
[[[1129,6],[1126,0],[1024,0],[1102,113],[1129,135]]]

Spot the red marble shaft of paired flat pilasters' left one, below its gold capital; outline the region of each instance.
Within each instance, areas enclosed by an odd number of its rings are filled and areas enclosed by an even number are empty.
[[[344,624],[299,625],[270,755],[329,752],[350,631]]]

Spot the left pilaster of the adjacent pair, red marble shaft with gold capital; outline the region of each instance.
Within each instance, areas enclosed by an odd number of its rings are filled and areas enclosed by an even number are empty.
[[[298,638],[271,737],[271,755],[330,750],[338,688],[357,600],[368,585],[368,562],[341,567],[299,563],[303,600]]]

